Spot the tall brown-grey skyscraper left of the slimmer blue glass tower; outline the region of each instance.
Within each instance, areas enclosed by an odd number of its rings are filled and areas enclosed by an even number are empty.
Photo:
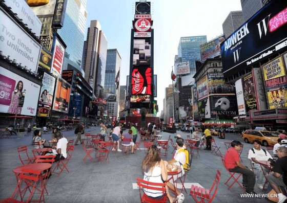
[[[93,88],[93,97],[103,99],[108,42],[99,21],[91,20],[86,41],[83,53],[86,56],[83,65],[85,80]]]

